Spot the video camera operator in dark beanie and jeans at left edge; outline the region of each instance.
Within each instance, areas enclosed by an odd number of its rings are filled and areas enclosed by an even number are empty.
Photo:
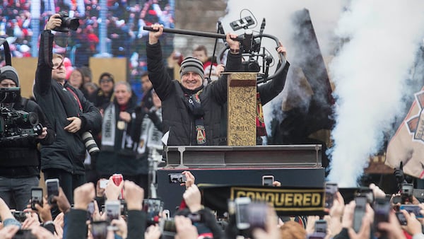
[[[16,69],[4,66],[0,69],[0,88],[19,87]],[[56,138],[41,108],[33,100],[20,98],[11,103],[13,110],[35,112],[42,132],[38,136],[25,136],[0,143],[0,197],[11,209],[23,210],[31,198],[31,187],[40,181],[40,155],[37,144],[49,145]]]

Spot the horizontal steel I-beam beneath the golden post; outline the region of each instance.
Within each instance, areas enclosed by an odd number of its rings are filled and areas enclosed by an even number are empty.
[[[319,144],[168,146],[165,168],[321,168]]]

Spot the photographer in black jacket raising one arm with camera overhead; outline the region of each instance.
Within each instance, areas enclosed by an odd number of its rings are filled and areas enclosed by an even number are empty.
[[[41,170],[46,179],[59,179],[60,187],[73,204],[73,190],[86,182],[86,146],[81,135],[100,131],[102,117],[98,108],[66,81],[64,58],[52,53],[54,35],[51,30],[61,25],[62,17],[56,13],[49,18],[40,35],[33,91],[37,103],[57,133],[54,144],[41,148]],[[56,212],[52,212],[54,217]]]

